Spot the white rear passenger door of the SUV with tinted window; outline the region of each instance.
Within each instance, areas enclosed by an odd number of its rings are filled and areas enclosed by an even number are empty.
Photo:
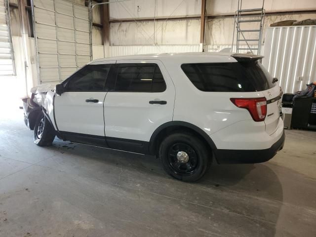
[[[153,132],[172,121],[175,88],[159,60],[120,60],[104,103],[109,147],[145,153]]]

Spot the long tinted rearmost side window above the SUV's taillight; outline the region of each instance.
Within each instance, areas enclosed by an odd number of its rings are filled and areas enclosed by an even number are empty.
[[[202,91],[253,92],[275,86],[266,69],[256,62],[190,63],[181,68]]]

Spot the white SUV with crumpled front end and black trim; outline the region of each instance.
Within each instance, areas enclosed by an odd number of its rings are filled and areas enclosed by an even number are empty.
[[[57,135],[157,155],[168,174],[196,181],[212,160],[263,162],[282,149],[282,92],[261,58],[179,53],[94,60],[53,90],[34,88],[23,100],[25,122],[39,146]]]

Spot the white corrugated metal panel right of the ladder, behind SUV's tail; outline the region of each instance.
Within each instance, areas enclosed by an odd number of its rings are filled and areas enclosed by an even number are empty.
[[[263,65],[278,78],[284,93],[316,81],[316,26],[270,27],[266,31]]]

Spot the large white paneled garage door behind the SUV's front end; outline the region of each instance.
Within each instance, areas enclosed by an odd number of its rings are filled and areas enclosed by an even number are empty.
[[[91,60],[89,10],[66,0],[35,0],[40,83],[58,83]]]

